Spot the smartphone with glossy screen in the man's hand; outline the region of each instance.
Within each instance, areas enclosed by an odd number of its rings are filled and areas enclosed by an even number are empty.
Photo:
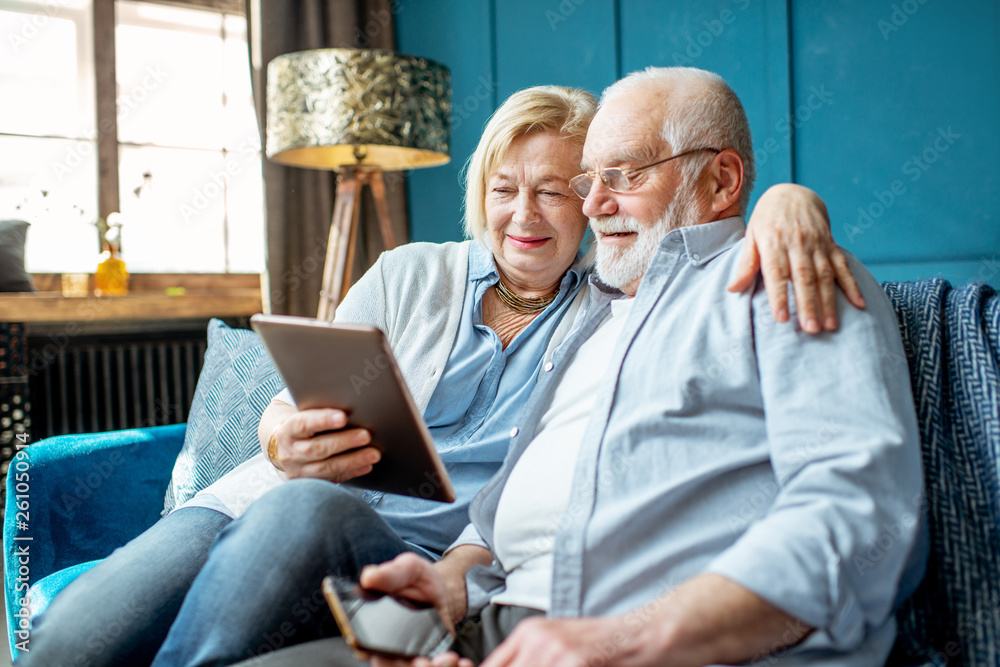
[[[455,640],[437,609],[426,603],[368,591],[351,579],[334,576],[323,579],[323,595],[341,635],[356,653],[432,658]]]

